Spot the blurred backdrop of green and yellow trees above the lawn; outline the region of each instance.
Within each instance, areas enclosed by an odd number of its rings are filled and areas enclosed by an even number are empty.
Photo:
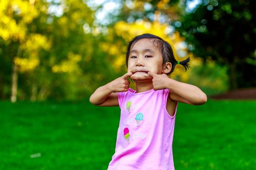
[[[130,30],[143,20],[168,24],[169,29],[178,31],[185,38],[188,55],[202,60],[184,80],[207,95],[256,85],[253,1],[201,0],[188,11],[190,0],[118,0],[119,7],[106,13],[102,24],[96,16],[110,2],[2,0],[0,99],[12,96],[15,66],[17,100],[82,100],[98,86],[121,76],[126,71],[124,63],[122,67],[115,63],[130,40],[116,27],[121,21],[130,24]]]

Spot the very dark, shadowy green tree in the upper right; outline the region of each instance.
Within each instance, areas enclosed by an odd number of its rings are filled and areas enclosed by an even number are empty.
[[[230,89],[256,86],[255,6],[254,0],[202,0],[176,25],[195,55],[228,66]]]

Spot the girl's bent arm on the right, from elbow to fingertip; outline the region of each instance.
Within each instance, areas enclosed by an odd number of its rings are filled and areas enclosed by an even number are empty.
[[[166,74],[148,72],[153,82],[154,90],[168,88],[169,98],[173,101],[184,102],[192,105],[201,105],[207,102],[206,94],[195,85],[190,85],[170,79]]]

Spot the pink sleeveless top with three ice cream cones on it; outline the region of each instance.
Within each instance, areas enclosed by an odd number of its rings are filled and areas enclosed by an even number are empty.
[[[121,109],[115,154],[108,170],[174,170],[174,116],[166,110],[169,89],[118,93]]]

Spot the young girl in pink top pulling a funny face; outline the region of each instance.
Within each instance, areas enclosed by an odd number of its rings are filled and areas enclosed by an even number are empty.
[[[120,106],[115,154],[108,170],[174,170],[173,134],[177,103],[204,104],[197,86],[170,79],[177,64],[170,44],[153,34],[133,38],[126,53],[127,73],[90,97],[98,106]],[[130,77],[136,91],[129,88]]]

